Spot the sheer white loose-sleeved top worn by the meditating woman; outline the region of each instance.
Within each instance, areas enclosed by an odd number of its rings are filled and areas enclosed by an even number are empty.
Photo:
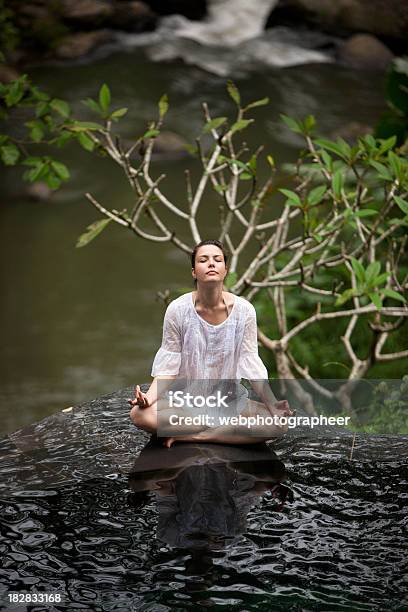
[[[152,366],[152,376],[160,375],[267,379],[267,369],[258,355],[255,308],[235,296],[228,318],[212,325],[197,313],[192,292],[175,299],[164,315],[162,344]]]

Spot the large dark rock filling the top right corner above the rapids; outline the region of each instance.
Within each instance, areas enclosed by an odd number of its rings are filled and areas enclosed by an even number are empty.
[[[368,32],[406,42],[408,3],[401,0],[280,0],[276,17],[305,22],[337,34]],[[274,20],[275,11],[270,19]]]

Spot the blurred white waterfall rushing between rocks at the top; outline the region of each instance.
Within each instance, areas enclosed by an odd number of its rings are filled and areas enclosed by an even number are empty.
[[[243,76],[266,67],[330,62],[325,34],[286,27],[265,30],[279,0],[208,0],[202,22],[182,15],[160,20],[155,32],[120,34],[119,46],[144,47],[153,61],[182,59],[212,74]]]

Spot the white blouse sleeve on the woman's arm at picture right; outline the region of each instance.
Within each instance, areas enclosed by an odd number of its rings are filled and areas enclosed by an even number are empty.
[[[268,379],[268,370],[258,355],[256,311],[252,304],[250,304],[245,321],[244,337],[238,360],[237,378],[246,378],[247,380]]]

